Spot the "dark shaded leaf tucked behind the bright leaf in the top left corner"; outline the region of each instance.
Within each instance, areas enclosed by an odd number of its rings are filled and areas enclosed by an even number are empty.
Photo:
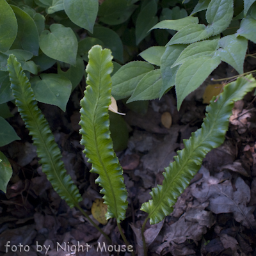
[[[34,20],[19,7],[11,5],[18,22],[18,32],[12,49],[24,49],[38,55],[39,37]]]

